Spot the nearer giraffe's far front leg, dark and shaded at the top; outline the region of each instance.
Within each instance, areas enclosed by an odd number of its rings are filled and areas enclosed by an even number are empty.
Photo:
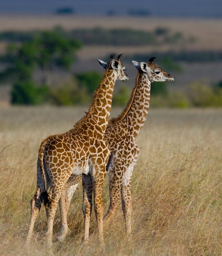
[[[89,240],[90,215],[92,212],[92,177],[82,175],[83,185],[83,204],[82,211],[84,214],[84,242]]]

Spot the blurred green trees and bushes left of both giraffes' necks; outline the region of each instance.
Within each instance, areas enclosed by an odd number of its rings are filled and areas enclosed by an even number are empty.
[[[51,75],[56,68],[70,70],[76,52],[82,47],[79,40],[64,36],[59,31],[42,31],[37,34],[6,33],[3,38],[11,38],[7,51],[0,61],[6,66],[0,73],[0,82],[12,83],[11,103],[37,105],[51,103],[71,105],[86,103],[101,80],[101,74],[86,72],[76,74],[73,84],[53,88]],[[20,43],[18,41],[22,40]],[[38,83],[33,74],[38,71]]]

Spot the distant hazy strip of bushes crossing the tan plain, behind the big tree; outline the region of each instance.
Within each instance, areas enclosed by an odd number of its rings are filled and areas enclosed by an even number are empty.
[[[151,31],[124,29],[103,29],[95,27],[92,29],[64,30],[62,27],[55,27],[56,31],[64,38],[74,38],[84,45],[161,45],[165,43],[182,44],[195,42],[194,37],[185,38],[181,32],[172,32],[165,27],[157,27]],[[0,40],[11,43],[18,43],[24,40],[32,40],[33,37],[41,34],[41,31],[5,31],[0,33]],[[102,40],[101,40],[102,38]]]

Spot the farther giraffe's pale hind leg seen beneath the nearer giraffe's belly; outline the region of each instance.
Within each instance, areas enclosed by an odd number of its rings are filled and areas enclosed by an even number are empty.
[[[67,186],[67,185],[66,185]],[[77,189],[78,184],[70,186],[62,191],[62,195],[59,199],[59,209],[60,209],[60,216],[61,216],[61,227],[60,227],[60,234],[57,237],[57,240],[62,241],[66,238],[68,233],[68,222],[67,222],[67,215],[68,209],[70,206],[71,199],[73,197],[73,193]]]

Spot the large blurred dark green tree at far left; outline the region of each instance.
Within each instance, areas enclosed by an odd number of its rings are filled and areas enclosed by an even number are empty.
[[[43,31],[33,38],[7,47],[1,56],[7,68],[0,73],[0,82],[13,84],[11,103],[40,104],[48,99],[50,76],[53,68],[70,69],[81,43],[67,38],[59,31]],[[36,85],[33,73],[40,70],[40,85]]]

